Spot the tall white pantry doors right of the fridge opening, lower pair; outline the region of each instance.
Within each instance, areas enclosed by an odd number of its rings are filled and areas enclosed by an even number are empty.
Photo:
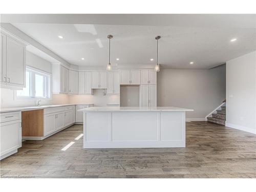
[[[157,87],[155,85],[140,86],[140,106],[157,106]]]

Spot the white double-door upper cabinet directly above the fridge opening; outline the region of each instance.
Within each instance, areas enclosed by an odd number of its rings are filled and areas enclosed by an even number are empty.
[[[120,84],[140,84],[140,70],[120,70]]]

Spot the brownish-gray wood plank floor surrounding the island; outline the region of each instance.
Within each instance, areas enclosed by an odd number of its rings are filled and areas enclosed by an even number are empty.
[[[82,148],[82,125],[25,141],[1,161],[1,177],[256,178],[256,135],[210,122],[186,123],[186,148]],[[61,151],[71,141],[67,151]]]

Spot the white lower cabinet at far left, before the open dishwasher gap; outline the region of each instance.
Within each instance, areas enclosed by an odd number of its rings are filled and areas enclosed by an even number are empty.
[[[22,146],[21,112],[1,113],[1,157],[4,159]]]

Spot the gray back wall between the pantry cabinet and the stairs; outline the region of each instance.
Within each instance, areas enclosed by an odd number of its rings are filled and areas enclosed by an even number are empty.
[[[157,105],[194,109],[186,118],[205,118],[226,97],[226,65],[210,70],[161,69]]]

